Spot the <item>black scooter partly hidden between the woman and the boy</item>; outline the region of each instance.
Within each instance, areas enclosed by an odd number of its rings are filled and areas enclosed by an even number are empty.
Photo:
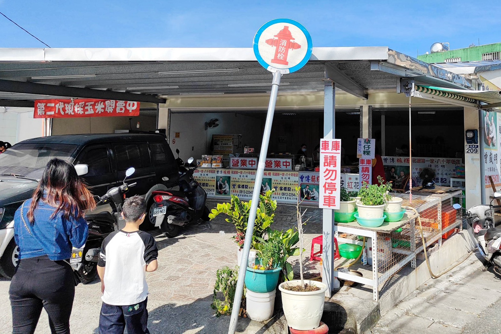
[[[119,187],[111,188],[106,194],[99,197],[97,204],[109,203],[111,213],[105,211],[85,216],[85,220],[89,224],[89,237],[83,247],[73,248],[70,258],[73,270],[77,272],[80,281],[84,284],[90,283],[96,278],[99,252],[101,251],[104,238],[111,232],[122,229],[125,226],[125,220],[121,215],[125,193],[129,191],[130,187],[136,185],[136,182],[127,184],[125,180],[134,174],[134,171],[133,167],[127,169],[124,183]]]

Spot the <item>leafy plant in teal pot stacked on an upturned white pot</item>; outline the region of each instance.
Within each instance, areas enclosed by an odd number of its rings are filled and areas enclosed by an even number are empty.
[[[275,237],[257,239],[260,243],[256,264],[254,267],[247,266],[245,273],[246,313],[252,320],[265,321],[273,316],[284,247],[281,240]]]

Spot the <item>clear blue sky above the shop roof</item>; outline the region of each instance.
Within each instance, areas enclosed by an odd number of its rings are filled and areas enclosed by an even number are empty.
[[[52,48],[250,48],[264,23],[289,18],[308,29],[314,47],[387,46],[413,57],[434,42],[501,42],[500,9],[490,0],[0,0],[0,12]],[[0,48],[43,47],[0,16]]]

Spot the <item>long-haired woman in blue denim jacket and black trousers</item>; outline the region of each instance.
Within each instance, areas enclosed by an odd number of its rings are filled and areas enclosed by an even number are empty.
[[[70,332],[75,281],[68,259],[73,246],[87,241],[84,210],[95,207],[75,167],[49,161],[33,197],[14,217],[20,260],[9,290],[13,333],[33,333],[42,308],[52,333]]]

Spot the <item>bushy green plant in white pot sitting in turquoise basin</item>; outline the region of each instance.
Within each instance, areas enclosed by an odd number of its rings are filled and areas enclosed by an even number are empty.
[[[360,203],[357,203],[357,208],[360,218],[382,218],[384,215],[387,186],[383,184],[381,177],[378,177],[378,181],[379,185],[364,182],[358,192]]]

